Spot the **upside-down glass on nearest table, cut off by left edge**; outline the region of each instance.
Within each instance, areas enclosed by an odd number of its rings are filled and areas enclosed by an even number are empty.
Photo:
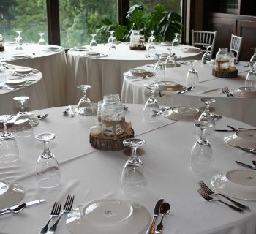
[[[0,116],[3,128],[0,135],[0,162],[15,162],[19,158],[18,143],[7,129],[7,122],[12,118],[10,115]]]

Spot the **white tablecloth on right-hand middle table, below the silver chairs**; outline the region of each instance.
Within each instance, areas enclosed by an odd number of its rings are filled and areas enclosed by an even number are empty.
[[[162,94],[165,94],[163,97],[159,97],[159,94],[156,92],[157,101],[159,105],[203,107],[204,104],[199,99],[201,97],[212,97],[216,100],[216,102],[211,104],[215,113],[256,126],[255,98],[230,98],[222,94],[222,88],[225,86],[229,87],[231,91],[244,86],[246,74],[249,71],[249,67],[244,67],[245,64],[244,62],[240,62],[240,64],[236,65],[238,77],[217,78],[211,75],[212,67],[203,66],[198,61],[195,64],[195,69],[199,76],[199,84],[195,89],[185,94],[162,92]],[[190,65],[187,63],[181,64],[181,67],[176,67],[176,69],[168,70],[164,80],[171,80],[184,85],[189,67]],[[143,68],[148,69],[148,67]],[[127,78],[127,73],[124,73],[121,102],[145,103],[149,97],[149,90],[143,87],[143,85],[153,81],[154,78],[130,79]]]

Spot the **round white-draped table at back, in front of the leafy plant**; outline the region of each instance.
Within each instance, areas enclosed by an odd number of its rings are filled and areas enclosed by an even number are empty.
[[[85,49],[83,49],[85,48]],[[132,67],[152,64],[157,61],[148,57],[146,50],[130,50],[129,44],[116,45],[116,50],[109,50],[110,45],[99,44],[97,47],[72,48],[67,53],[67,102],[69,105],[78,103],[81,91],[77,88],[81,84],[89,84],[92,88],[88,97],[96,102],[103,99],[105,94],[121,94],[123,73]],[[170,45],[156,45],[155,53],[169,53]],[[195,59],[201,51],[187,51],[188,45],[173,47],[177,59]],[[186,51],[186,52],[184,52]],[[88,56],[87,53],[97,52],[99,56]]]

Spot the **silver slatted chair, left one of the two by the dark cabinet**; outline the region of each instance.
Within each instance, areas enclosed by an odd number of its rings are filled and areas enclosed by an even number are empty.
[[[203,45],[211,45],[211,58],[214,52],[214,44],[217,31],[195,31],[191,30],[191,45],[203,48]]]

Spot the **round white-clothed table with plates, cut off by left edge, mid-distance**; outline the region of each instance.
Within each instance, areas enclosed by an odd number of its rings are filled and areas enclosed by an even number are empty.
[[[4,73],[0,73],[0,115],[14,115],[18,113],[20,108],[18,102],[14,101],[14,97],[28,96],[30,100],[25,106],[28,110],[38,110],[48,107],[47,92],[45,84],[42,82],[42,73],[36,69],[23,66],[15,66],[6,64],[7,69]],[[18,73],[18,71],[28,71],[26,73]],[[17,71],[17,72],[16,72]],[[23,82],[18,85],[8,82]]]

